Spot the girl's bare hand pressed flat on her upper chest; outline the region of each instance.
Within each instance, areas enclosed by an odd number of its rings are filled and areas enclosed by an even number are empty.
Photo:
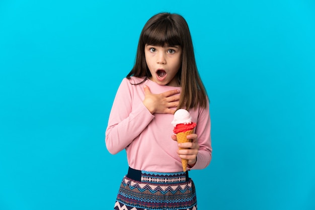
[[[153,113],[168,113],[173,114],[175,110],[170,109],[173,107],[177,107],[179,103],[179,90],[169,90],[159,94],[151,93],[149,87],[144,85],[144,106]]]

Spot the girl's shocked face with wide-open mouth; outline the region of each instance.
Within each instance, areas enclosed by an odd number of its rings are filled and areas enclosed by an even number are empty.
[[[176,46],[145,45],[145,61],[153,82],[160,85],[180,86],[175,77],[182,64],[182,48]]]

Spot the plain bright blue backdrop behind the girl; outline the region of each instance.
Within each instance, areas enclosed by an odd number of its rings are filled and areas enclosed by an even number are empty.
[[[187,20],[211,103],[200,209],[315,209],[315,3],[0,1],[0,209],[112,209],[110,108],[159,12]]]

